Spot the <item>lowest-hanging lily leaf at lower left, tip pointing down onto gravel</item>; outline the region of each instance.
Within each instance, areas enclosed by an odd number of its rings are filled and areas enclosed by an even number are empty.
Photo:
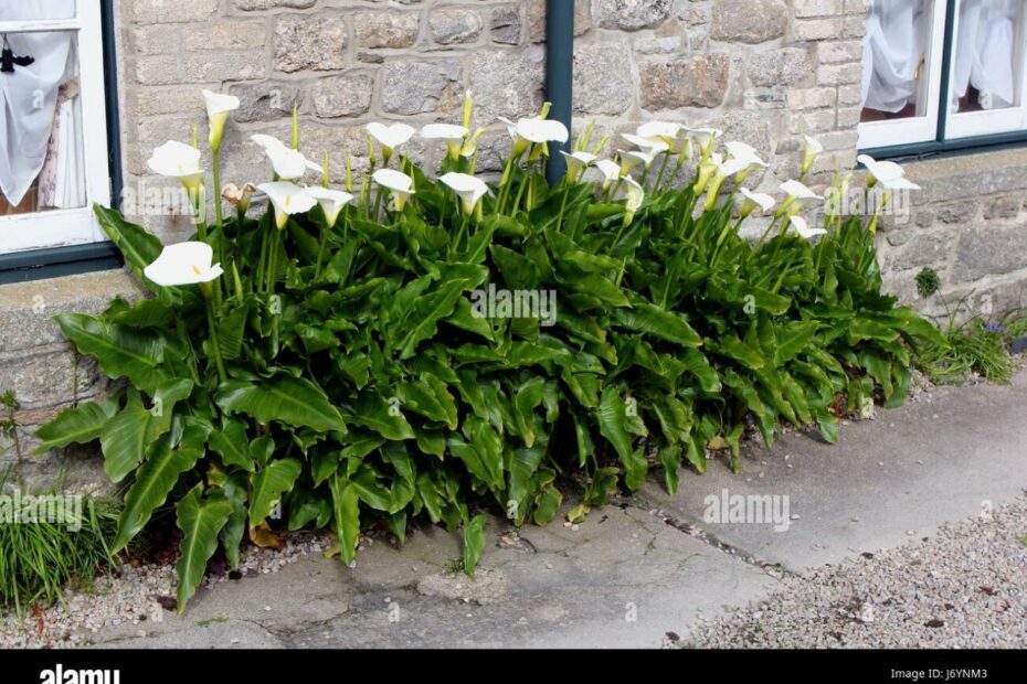
[[[195,594],[207,573],[207,563],[218,548],[218,533],[232,515],[232,502],[224,496],[212,496],[201,501],[202,484],[197,484],[174,507],[174,521],[184,533],[179,545],[179,559],[174,564],[178,573],[178,611]]]

